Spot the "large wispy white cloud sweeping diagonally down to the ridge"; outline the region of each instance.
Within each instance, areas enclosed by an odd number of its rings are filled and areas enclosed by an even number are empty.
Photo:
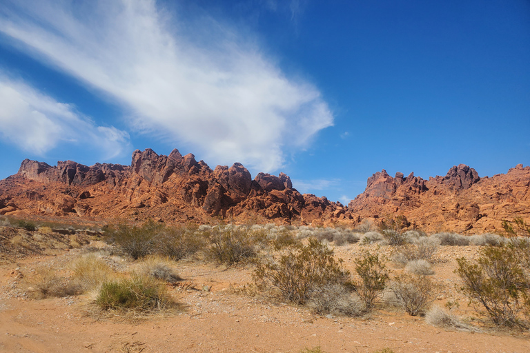
[[[226,23],[184,20],[154,0],[6,5],[0,31],[28,53],[117,100],[131,128],[208,161],[272,171],[285,150],[333,125],[315,86],[288,79],[254,38]]]

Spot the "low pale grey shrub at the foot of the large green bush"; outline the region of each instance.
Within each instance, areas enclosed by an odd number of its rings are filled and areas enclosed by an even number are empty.
[[[326,285],[311,290],[308,306],[317,314],[357,316],[362,314],[364,304],[352,296],[351,290],[342,284]]]

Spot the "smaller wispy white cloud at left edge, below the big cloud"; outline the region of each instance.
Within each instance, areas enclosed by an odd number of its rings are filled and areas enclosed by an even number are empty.
[[[127,132],[97,126],[72,105],[59,103],[22,81],[0,72],[0,137],[21,150],[43,155],[60,143],[100,150],[102,159],[116,157],[128,146]]]

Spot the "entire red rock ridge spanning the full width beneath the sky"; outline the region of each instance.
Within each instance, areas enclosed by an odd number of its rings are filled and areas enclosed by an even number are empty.
[[[17,174],[0,181],[0,214],[81,219],[155,219],[212,223],[300,223],[355,226],[368,219],[405,216],[427,231],[494,232],[503,219],[530,222],[530,167],[479,177],[458,165],[429,180],[395,177],[382,170],[346,207],[325,197],[300,194],[283,173],[252,179],[243,165],[212,170],[193,154],[168,156],[136,150],[129,165],[57,166],[26,159]]]

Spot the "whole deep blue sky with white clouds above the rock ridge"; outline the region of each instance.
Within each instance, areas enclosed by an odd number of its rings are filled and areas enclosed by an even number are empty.
[[[530,163],[530,3],[0,3],[0,178],[192,152],[347,203],[386,169]]]

